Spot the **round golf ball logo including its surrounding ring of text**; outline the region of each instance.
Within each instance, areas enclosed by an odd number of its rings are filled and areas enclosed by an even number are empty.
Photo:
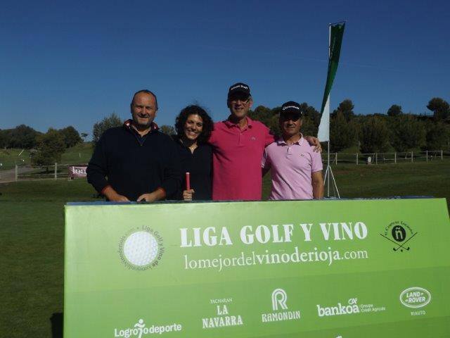
[[[119,242],[119,255],[129,269],[155,268],[165,252],[162,236],[150,227],[135,227],[124,234]]]

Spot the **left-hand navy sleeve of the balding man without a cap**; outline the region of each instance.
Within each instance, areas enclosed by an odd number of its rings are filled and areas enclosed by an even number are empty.
[[[108,180],[106,180],[108,161],[105,153],[105,137],[102,136],[96,144],[94,154],[92,154],[86,169],[87,182],[92,184],[99,194],[102,194],[103,189],[108,186]]]

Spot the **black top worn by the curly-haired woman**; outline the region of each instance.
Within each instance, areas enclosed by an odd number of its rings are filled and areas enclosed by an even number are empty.
[[[207,201],[212,199],[212,146],[210,144],[198,144],[191,150],[181,143],[180,139],[173,136],[181,160],[181,189],[177,194],[178,199],[183,199],[183,190],[186,190],[186,173],[191,176],[191,189],[194,189],[193,200]]]

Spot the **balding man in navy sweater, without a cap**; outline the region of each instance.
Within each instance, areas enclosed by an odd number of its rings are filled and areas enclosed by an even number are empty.
[[[132,120],[106,130],[96,144],[87,180],[109,201],[158,201],[181,182],[176,145],[158,131],[155,94],[141,90],[131,101]]]

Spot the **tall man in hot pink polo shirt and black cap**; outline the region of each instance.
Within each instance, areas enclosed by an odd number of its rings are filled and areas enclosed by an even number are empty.
[[[264,148],[274,142],[274,135],[263,123],[248,118],[253,100],[247,84],[233,84],[226,104],[231,115],[214,124],[210,137],[213,147],[212,199],[260,200],[262,154]],[[320,149],[319,139],[305,138]]]

